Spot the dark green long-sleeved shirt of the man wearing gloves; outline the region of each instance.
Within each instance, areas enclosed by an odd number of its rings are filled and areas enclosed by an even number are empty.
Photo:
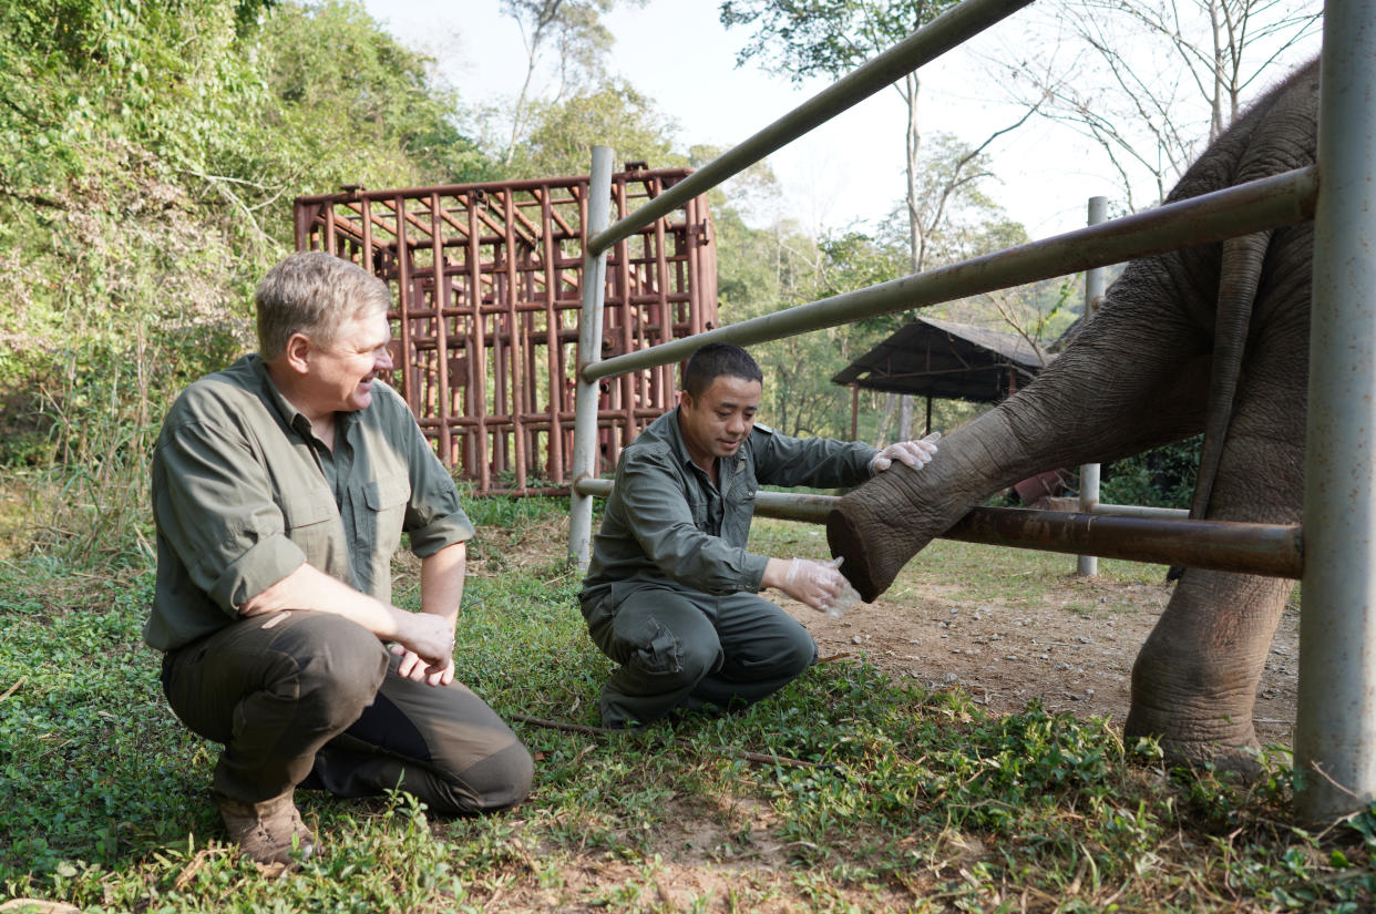
[[[713,485],[688,454],[678,407],[671,409],[621,454],[593,537],[583,610],[608,595],[621,603],[651,584],[711,595],[758,592],[769,557],[747,552],[746,541],[760,486],[854,486],[870,479],[877,453],[859,442],[791,438],[757,424],[735,454],[717,460]]]

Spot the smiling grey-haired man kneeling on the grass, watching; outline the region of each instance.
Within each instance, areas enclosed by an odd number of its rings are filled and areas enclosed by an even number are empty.
[[[259,352],[191,384],[153,457],[144,640],[176,716],[224,743],[212,793],[253,859],[308,855],[297,786],[402,789],[440,814],[530,790],[530,753],[454,681],[473,527],[400,396],[381,279],[322,252],[256,295]],[[391,603],[402,533],[421,611]],[[388,647],[389,644],[389,647]]]

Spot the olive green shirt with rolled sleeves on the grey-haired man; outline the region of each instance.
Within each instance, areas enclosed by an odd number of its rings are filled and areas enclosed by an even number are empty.
[[[158,573],[143,637],[182,647],[304,563],[391,602],[402,531],[425,557],[473,535],[454,480],[381,381],[336,413],[334,449],[248,355],[191,384],[153,454]]]

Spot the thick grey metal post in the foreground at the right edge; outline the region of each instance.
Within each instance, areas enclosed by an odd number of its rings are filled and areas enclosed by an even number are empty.
[[[1376,0],[1328,0],[1304,454],[1296,807],[1376,798]]]

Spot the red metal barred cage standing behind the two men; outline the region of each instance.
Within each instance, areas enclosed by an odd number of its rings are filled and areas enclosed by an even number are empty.
[[[689,173],[627,164],[612,179],[612,219]],[[567,491],[586,213],[588,178],[296,200],[299,251],[329,251],[392,289],[394,384],[477,494]],[[703,198],[608,252],[601,358],[716,325]],[[600,471],[674,390],[671,366],[603,381]]]

